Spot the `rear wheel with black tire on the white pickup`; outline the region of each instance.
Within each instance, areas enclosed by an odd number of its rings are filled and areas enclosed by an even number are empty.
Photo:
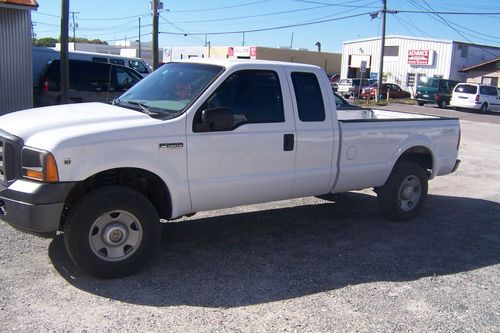
[[[419,164],[400,161],[386,183],[377,189],[382,213],[392,221],[415,217],[427,198],[427,171]]]

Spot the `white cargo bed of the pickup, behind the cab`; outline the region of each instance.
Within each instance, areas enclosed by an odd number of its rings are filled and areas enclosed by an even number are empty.
[[[337,115],[342,139],[333,192],[383,185],[398,152],[410,147],[432,147],[436,155],[430,178],[454,167],[460,130],[456,118],[370,109],[338,110]]]

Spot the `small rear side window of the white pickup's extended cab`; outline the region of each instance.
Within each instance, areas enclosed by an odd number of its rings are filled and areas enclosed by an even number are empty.
[[[324,121],[325,106],[316,75],[313,73],[292,73],[293,89],[301,121]]]

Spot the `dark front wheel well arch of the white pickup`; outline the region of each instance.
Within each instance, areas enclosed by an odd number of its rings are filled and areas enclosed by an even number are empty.
[[[65,216],[71,207],[83,195],[96,187],[107,185],[122,185],[134,189],[151,201],[160,218],[169,219],[171,217],[170,192],[160,177],[143,169],[119,168],[102,171],[79,182],[66,199],[62,223],[64,223]]]

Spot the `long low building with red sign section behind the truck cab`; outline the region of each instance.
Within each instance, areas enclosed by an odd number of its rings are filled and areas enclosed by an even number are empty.
[[[340,73],[342,55],[339,53],[308,51],[304,49],[296,50],[262,46],[166,47],[163,49],[163,62],[193,57],[299,62],[319,66],[331,75]]]

